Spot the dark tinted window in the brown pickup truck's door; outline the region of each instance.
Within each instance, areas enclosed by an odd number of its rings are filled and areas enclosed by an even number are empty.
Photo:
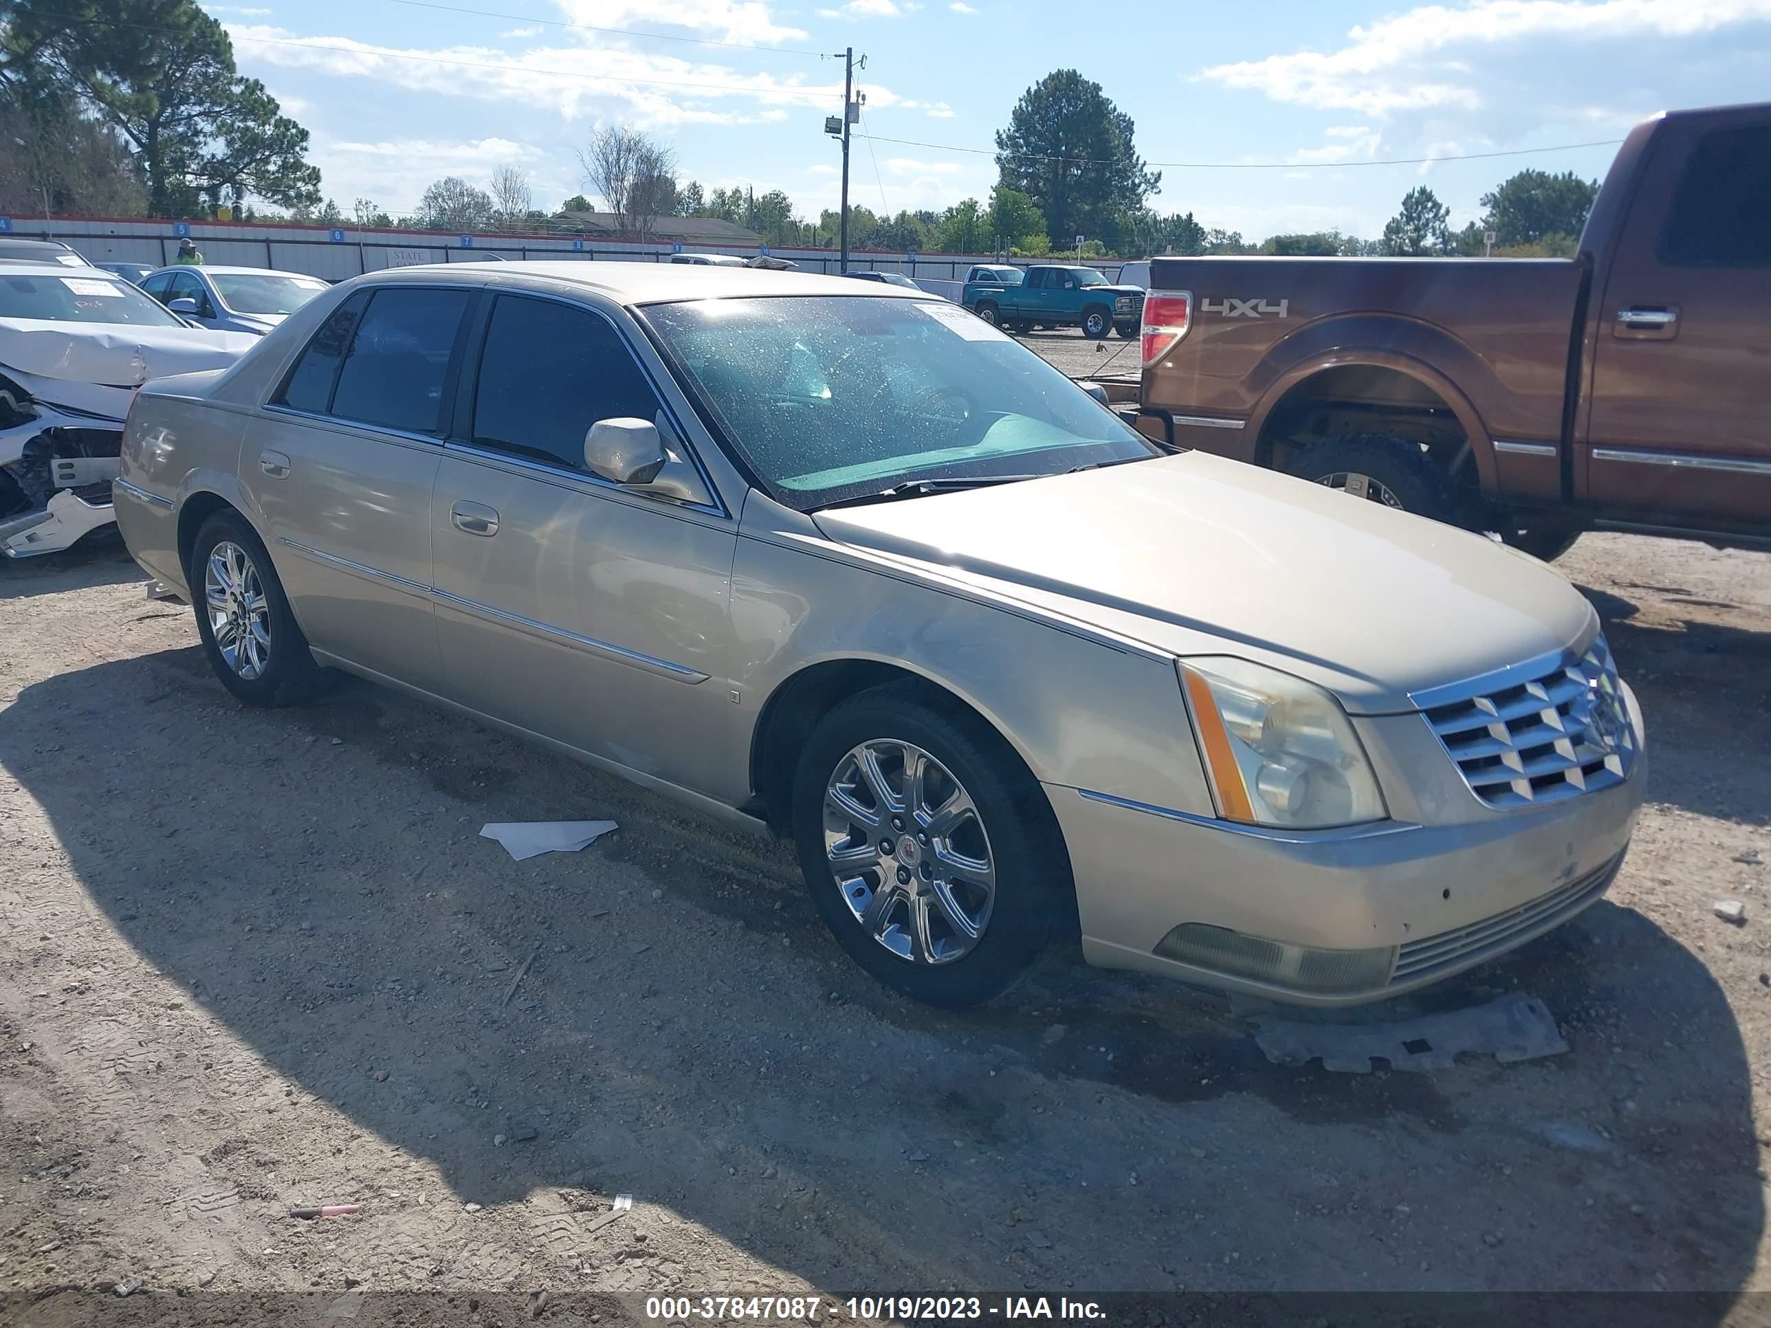
[[[1771,124],[1705,135],[1679,182],[1661,262],[1771,267]]]

